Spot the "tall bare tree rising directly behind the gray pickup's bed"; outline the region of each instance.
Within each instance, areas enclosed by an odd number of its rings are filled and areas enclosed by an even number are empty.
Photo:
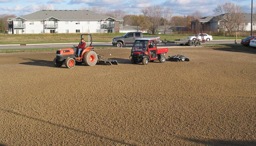
[[[158,26],[161,23],[162,17],[162,6],[148,6],[141,10],[144,16],[149,19],[149,30],[155,34],[157,32]]]

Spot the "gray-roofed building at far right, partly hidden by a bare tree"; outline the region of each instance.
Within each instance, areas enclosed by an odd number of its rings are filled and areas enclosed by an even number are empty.
[[[239,27],[240,31],[250,31],[251,27],[251,14],[250,13],[239,13],[241,14],[241,24]],[[223,22],[227,21],[227,17],[230,17],[230,13],[225,13],[218,16],[206,16],[200,19],[196,19],[191,22],[192,30],[211,31],[219,32],[225,29]],[[253,14],[253,29],[256,29],[256,14]],[[235,29],[235,28],[234,28]],[[236,28],[237,29],[237,28]],[[225,29],[226,30],[226,29]]]

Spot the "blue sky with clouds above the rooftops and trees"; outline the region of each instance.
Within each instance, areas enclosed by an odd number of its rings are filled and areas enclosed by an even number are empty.
[[[198,10],[203,16],[210,16],[214,15],[213,10],[218,4],[228,1],[243,6],[244,12],[250,13],[251,0],[0,0],[0,14],[26,15],[37,11],[41,4],[51,5],[56,10],[98,6],[109,11],[141,14],[141,9],[147,6],[162,5],[170,7],[174,15],[190,15]],[[256,10],[256,0],[254,3]]]

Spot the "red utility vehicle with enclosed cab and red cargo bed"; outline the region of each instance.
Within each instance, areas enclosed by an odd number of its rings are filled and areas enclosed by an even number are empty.
[[[161,63],[166,61],[165,54],[168,48],[157,49],[156,39],[139,38],[136,39],[131,51],[131,63],[141,63],[147,65],[148,62],[159,60]]]

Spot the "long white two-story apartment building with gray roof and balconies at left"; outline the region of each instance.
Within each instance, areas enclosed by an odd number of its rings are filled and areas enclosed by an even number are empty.
[[[122,29],[122,18],[88,10],[41,10],[8,19],[8,33],[109,33]]]

